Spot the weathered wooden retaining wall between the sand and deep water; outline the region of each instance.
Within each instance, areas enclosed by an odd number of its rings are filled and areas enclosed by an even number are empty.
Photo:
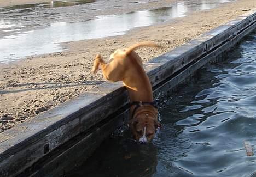
[[[151,60],[145,67],[154,94],[167,93],[255,28],[252,10]],[[122,84],[104,83],[99,89],[1,133],[0,176],[61,176],[70,164],[79,164],[80,155],[85,160],[127,121],[129,100]]]

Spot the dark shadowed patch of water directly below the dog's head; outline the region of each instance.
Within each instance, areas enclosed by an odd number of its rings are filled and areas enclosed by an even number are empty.
[[[113,147],[109,146],[109,143],[115,146],[114,156]],[[76,172],[71,173],[70,176],[149,176],[156,172],[158,160],[154,145],[138,145],[127,139],[121,141],[110,139],[102,143],[102,148],[98,152],[97,161],[90,159],[80,167],[85,170],[75,170]],[[97,174],[95,167],[98,167]]]

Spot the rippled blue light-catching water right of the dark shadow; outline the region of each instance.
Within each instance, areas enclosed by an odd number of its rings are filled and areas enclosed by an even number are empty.
[[[243,147],[243,141],[256,144],[255,33],[227,56],[203,68],[199,80],[180,88],[161,109],[162,122],[172,117],[172,127],[182,132],[160,134],[158,160],[191,176],[252,176],[255,170],[256,157],[247,157]]]

